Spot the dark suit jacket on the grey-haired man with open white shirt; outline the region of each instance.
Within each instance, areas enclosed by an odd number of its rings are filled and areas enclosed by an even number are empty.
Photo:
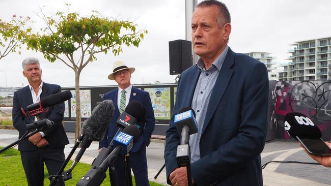
[[[56,84],[48,84],[43,82],[42,92],[40,99],[61,92],[61,86]],[[14,92],[13,99],[13,126],[19,132],[19,138],[23,136],[26,132],[26,124],[32,123],[35,117],[25,117],[21,111],[21,108],[26,109],[26,106],[33,104],[33,99],[31,95],[31,90],[29,86],[25,86]],[[49,107],[48,112],[41,113],[40,119],[47,118],[54,122],[54,127],[50,130],[44,131],[45,139],[48,141],[48,145],[41,148],[59,148],[69,144],[67,134],[62,125],[64,114],[64,103],[60,103]],[[33,143],[29,142],[26,138],[18,144],[18,150],[22,151],[32,151],[36,150],[38,147]]]

